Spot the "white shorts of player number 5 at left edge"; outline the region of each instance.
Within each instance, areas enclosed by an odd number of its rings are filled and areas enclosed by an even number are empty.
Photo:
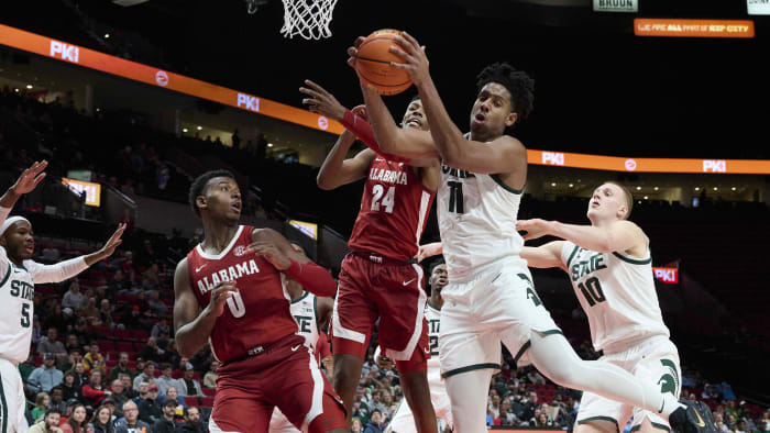
[[[0,358],[0,431],[26,433],[30,425],[24,417],[26,398],[19,368],[8,359]]]

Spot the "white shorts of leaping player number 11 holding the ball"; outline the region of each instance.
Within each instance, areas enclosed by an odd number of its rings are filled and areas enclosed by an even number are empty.
[[[441,375],[501,368],[501,343],[520,366],[532,331],[561,333],[535,291],[527,262],[494,263],[466,281],[450,281],[441,290],[439,356]]]

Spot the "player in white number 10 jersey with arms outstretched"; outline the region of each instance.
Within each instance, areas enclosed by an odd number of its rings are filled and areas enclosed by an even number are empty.
[[[558,267],[570,276],[603,360],[679,397],[679,353],[660,313],[649,240],[628,221],[632,207],[631,192],[608,181],[593,192],[587,211],[591,225],[519,221],[517,229],[527,232],[525,240],[543,235],[565,240],[524,247],[521,257],[531,267]],[[658,413],[584,392],[575,433],[623,431],[631,415],[631,431],[671,430]]]

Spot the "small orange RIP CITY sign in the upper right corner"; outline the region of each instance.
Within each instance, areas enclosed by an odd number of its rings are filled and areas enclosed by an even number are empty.
[[[673,37],[754,37],[754,21],[637,18],[634,20],[634,34]]]

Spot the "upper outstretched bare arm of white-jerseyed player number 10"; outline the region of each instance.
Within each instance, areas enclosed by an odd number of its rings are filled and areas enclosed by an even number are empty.
[[[629,252],[641,256],[647,251],[647,236],[638,225],[627,220],[614,221],[602,227],[540,219],[521,220],[516,223],[516,230],[527,232],[522,235],[525,241],[550,234],[597,253]]]

